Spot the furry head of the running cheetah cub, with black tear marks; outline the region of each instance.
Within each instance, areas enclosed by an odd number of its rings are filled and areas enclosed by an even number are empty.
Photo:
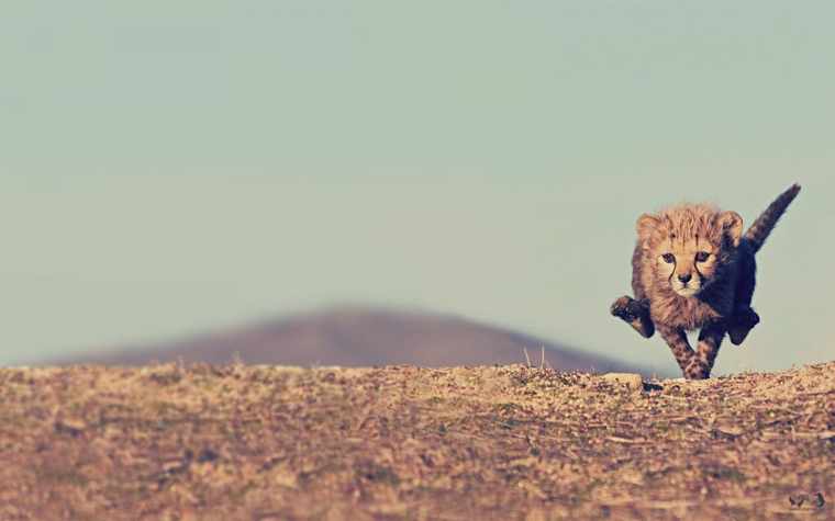
[[[637,233],[654,284],[689,298],[730,269],[743,219],[736,212],[688,204],[642,215]]]

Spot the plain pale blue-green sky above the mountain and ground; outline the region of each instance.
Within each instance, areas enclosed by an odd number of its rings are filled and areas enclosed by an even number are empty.
[[[4,4],[0,364],[337,303],[670,371],[609,316],[644,212],[750,223],[716,374],[835,358],[835,4]]]

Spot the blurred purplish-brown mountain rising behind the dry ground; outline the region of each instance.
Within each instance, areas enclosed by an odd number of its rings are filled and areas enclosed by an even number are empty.
[[[465,318],[365,307],[332,308],[57,363],[141,365],[182,360],[224,364],[240,358],[247,364],[441,367],[524,363],[527,350],[531,363],[538,365],[542,347],[554,369],[639,372],[624,363]]]

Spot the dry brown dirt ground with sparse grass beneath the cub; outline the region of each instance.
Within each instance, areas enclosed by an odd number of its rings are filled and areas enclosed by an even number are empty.
[[[835,519],[835,363],[0,370],[1,520]]]

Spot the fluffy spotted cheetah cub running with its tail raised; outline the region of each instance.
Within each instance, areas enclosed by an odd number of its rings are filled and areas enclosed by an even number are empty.
[[[612,315],[645,338],[657,328],[684,377],[708,378],[725,333],[738,346],[759,322],[750,307],[754,256],[799,192],[794,184],[780,194],[745,234],[736,212],[708,204],[642,215],[632,256],[635,296],[616,299]],[[700,328],[693,351],[687,331]]]

